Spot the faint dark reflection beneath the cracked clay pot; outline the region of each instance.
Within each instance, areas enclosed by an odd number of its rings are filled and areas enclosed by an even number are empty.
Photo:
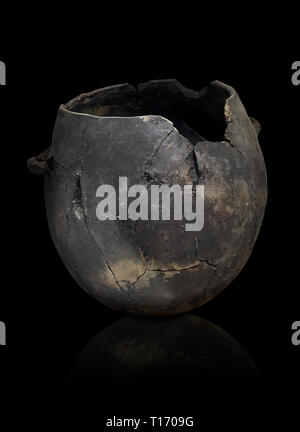
[[[183,395],[187,404],[194,397],[191,389],[217,398],[237,384],[246,392],[255,378],[259,373],[253,360],[231,336],[205,319],[185,314],[127,317],[110,325],[79,355],[69,387],[103,390],[115,400],[122,400],[129,388],[133,401],[154,393],[170,401],[180,394],[181,404]]]

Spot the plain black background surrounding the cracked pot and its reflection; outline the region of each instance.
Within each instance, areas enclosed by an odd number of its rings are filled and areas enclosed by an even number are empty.
[[[66,271],[48,231],[42,178],[27,171],[26,160],[49,146],[61,103],[106,85],[176,78],[194,89],[215,79],[232,85],[248,114],[262,124],[269,198],[259,238],[230,287],[195,313],[221,326],[251,354],[266,381],[261,404],[266,421],[295,419],[300,366],[291,324],[299,320],[300,304],[300,86],[291,83],[291,65],[300,55],[299,7],[212,4],[163,10],[141,4],[109,11],[90,5],[78,6],[76,19],[63,17],[61,9],[26,6],[16,11],[18,20],[12,13],[1,17],[0,60],[7,66],[7,85],[0,87],[3,416],[34,424],[39,414],[50,420],[67,406],[72,410],[73,402],[67,403],[72,398],[63,390],[70,367],[94,335],[122,317],[87,296]],[[140,391],[141,397],[147,394],[146,388]],[[201,394],[192,383],[190,391]],[[89,396],[82,395],[79,405]],[[99,430],[105,397],[105,388],[92,396]],[[122,409],[138,417],[141,408],[135,411],[130,397],[128,389]],[[255,397],[249,398],[250,417]],[[185,396],[178,399],[186,411]],[[146,414],[155,415],[147,408]],[[11,409],[18,415],[10,416]],[[234,406],[231,412],[235,417]],[[180,414],[170,407],[160,413]],[[191,413],[201,414],[200,407]]]

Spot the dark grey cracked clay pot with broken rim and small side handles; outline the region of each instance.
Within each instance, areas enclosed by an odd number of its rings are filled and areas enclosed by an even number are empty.
[[[73,278],[105,305],[141,315],[187,311],[224,289],[249,257],[266,203],[255,128],[217,81],[200,92],[165,80],[81,95],[59,108],[51,148],[29,167],[45,174],[50,231]],[[186,231],[184,219],[100,222],[96,190],[118,190],[119,177],[148,189],[204,185],[203,229]]]

